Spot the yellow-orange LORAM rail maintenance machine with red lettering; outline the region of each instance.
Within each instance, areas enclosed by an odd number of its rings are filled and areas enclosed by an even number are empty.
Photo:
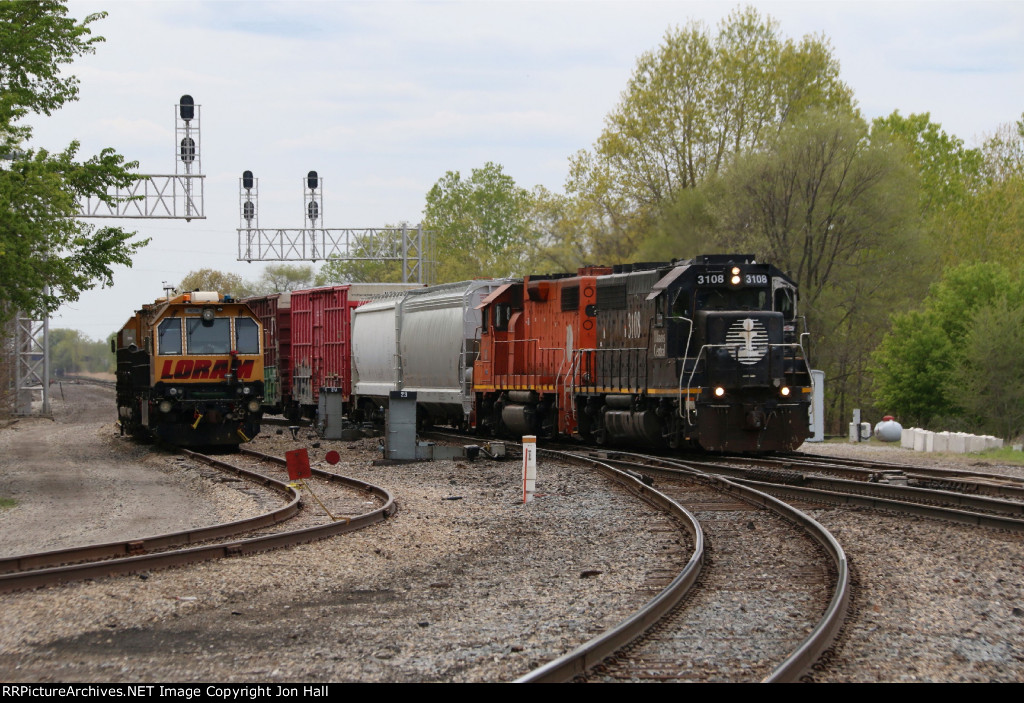
[[[213,292],[143,305],[111,342],[122,433],[177,446],[237,445],[262,418],[263,327]]]

